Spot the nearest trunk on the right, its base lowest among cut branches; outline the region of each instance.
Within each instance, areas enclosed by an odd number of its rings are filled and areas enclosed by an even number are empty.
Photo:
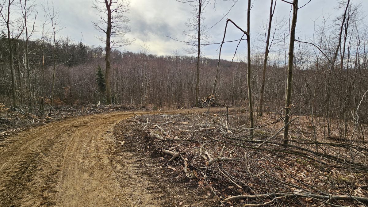
[[[289,45],[289,62],[287,69],[287,85],[286,85],[286,98],[285,98],[285,119],[284,119],[284,144],[287,145],[289,137],[289,120],[291,112],[291,94],[293,91],[293,64],[294,64],[294,42],[295,42],[295,29],[297,26],[298,17],[298,0],[293,0],[293,19],[291,20],[290,29],[290,45]]]

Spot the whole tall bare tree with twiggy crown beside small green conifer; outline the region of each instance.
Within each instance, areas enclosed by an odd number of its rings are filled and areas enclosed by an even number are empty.
[[[130,45],[132,41],[124,36],[130,32],[130,27],[126,24],[130,21],[128,17],[123,15],[129,11],[129,1],[126,0],[95,0],[93,2],[93,8],[99,12],[99,20],[93,22],[93,26],[98,31],[106,34],[106,39],[102,36],[98,36],[100,41],[106,42],[106,55],[105,55],[105,82],[106,82],[106,96],[107,103],[112,103],[111,97],[111,84],[110,84],[110,54],[111,49],[114,47],[121,47],[124,45]]]

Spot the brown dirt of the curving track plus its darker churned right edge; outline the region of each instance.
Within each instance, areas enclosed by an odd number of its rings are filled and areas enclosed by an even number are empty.
[[[4,139],[0,206],[176,206],[187,200],[186,195],[202,196],[195,188],[183,190],[175,182],[166,188],[159,185],[153,176],[160,169],[143,153],[131,153],[134,145],[121,151],[113,127],[131,116],[132,112],[116,112],[75,117]],[[167,203],[165,194],[175,191],[177,200]]]

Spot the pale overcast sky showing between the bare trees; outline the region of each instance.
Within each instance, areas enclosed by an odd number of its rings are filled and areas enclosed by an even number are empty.
[[[36,0],[36,3],[41,5],[43,0]],[[51,1],[52,2],[52,1]],[[230,18],[236,22],[241,28],[246,30],[246,14],[247,1],[239,0],[231,9],[226,18]],[[302,6],[308,0],[299,0],[299,5]],[[311,0],[311,2],[298,11],[297,32],[300,39],[307,39],[312,36],[314,24],[322,24],[322,16],[331,16],[333,19],[340,15],[343,10],[337,11],[336,0]],[[366,15],[368,8],[368,0],[351,0],[352,3],[361,3],[362,11]],[[70,36],[75,41],[82,40],[88,45],[103,45],[95,36],[99,35],[91,23],[91,20],[96,20],[98,16],[92,8],[92,0],[54,0],[54,6],[60,11],[60,23],[65,28],[60,32],[60,35]],[[229,11],[233,3],[229,1],[210,0],[211,5],[206,7],[205,24],[208,26],[218,22],[224,14]],[[252,42],[259,39],[258,33],[262,31],[262,22],[267,21],[269,16],[269,0],[253,1],[251,10],[251,38]],[[279,20],[286,18],[289,21],[290,4],[277,1],[276,15]],[[174,41],[166,36],[171,36],[180,40],[187,40],[183,35],[183,31],[188,28],[185,22],[191,16],[191,7],[188,3],[179,3],[174,0],[131,0],[130,12],[126,15],[130,18],[129,26],[131,32],[127,35],[128,38],[135,38],[136,41],[131,45],[121,50],[129,50],[139,52],[143,41],[149,45],[150,52],[156,55],[173,54],[175,50],[180,52],[180,55],[187,55],[183,48],[187,48],[184,43]],[[224,18],[215,27],[210,30],[211,42],[221,42],[223,30],[226,22]],[[367,19],[367,18],[366,18]],[[367,21],[366,21],[367,22]],[[226,40],[240,39],[243,34],[236,28],[230,26]],[[256,44],[256,43],[255,43]],[[257,43],[259,44],[259,43]],[[229,43],[224,46],[223,58],[231,59],[237,43]],[[216,58],[218,46],[207,46],[203,48],[206,57]],[[245,55],[246,41],[239,46],[239,55]]]

